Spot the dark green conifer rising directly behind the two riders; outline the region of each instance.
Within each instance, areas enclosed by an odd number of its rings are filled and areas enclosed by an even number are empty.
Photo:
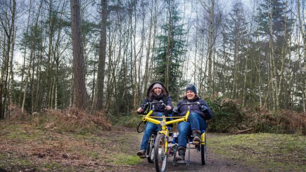
[[[172,99],[177,100],[179,98],[179,89],[182,86],[178,83],[182,74],[179,70],[182,63],[180,56],[186,53],[184,49],[186,44],[185,40],[182,39],[185,30],[183,29],[183,24],[180,24],[181,17],[179,16],[178,4],[172,3],[172,1],[168,2],[169,8],[171,8],[168,22],[161,26],[164,34],[157,36],[155,72],[159,76],[158,80],[165,83]],[[167,73],[167,71],[169,72]]]

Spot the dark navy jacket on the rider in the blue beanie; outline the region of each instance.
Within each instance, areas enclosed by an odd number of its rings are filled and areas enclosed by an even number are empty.
[[[202,111],[201,107],[197,104],[191,104],[190,105],[190,113],[194,112],[198,114],[200,117],[204,118],[205,120],[209,120],[213,118],[213,113],[211,112],[208,104],[206,103],[205,100],[203,99],[196,99],[194,98],[193,100],[188,100],[188,99],[182,99],[177,103],[177,107],[183,103],[196,103],[199,102],[200,106],[205,105],[207,107],[207,110]],[[188,111],[188,105],[182,105],[180,109],[178,110],[178,116],[185,116]]]

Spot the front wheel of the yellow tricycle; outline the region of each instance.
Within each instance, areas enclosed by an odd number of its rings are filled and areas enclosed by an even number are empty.
[[[164,134],[158,134],[154,145],[154,164],[157,172],[166,171],[168,154],[166,153],[166,138]]]

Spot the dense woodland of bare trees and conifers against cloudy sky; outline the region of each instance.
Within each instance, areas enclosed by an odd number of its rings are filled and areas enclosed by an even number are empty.
[[[153,81],[306,112],[305,0],[2,0],[0,110],[127,114]]]

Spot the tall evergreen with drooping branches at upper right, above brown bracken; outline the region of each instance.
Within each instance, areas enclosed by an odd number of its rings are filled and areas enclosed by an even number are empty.
[[[288,101],[285,97],[281,99],[279,95],[281,87],[283,87],[280,84],[280,82],[283,82],[283,66],[284,62],[287,61],[285,58],[289,46],[288,33],[291,32],[293,24],[293,21],[288,19],[289,10],[287,7],[287,2],[281,0],[264,0],[258,6],[257,23],[263,41],[261,49],[268,55],[264,65],[268,67],[265,77],[267,77],[269,84],[267,85],[267,95],[263,106],[271,107],[272,110],[279,108],[280,101]]]

